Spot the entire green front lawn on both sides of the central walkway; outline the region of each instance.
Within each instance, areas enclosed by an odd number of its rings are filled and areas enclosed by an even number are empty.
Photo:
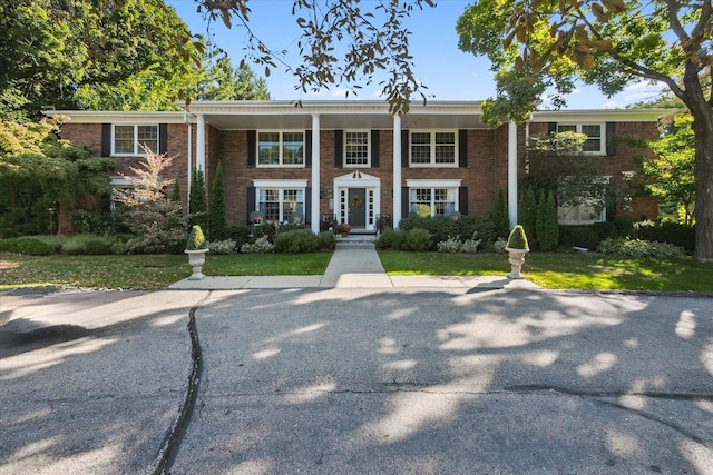
[[[505,276],[509,270],[504,254],[380,251],[379,255],[390,275]],[[204,273],[209,276],[320,275],[331,256],[331,253],[208,256]],[[713,264],[700,264],[691,258],[625,259],[593,254],[533,253],[527,255],[522,271],[535,284],[554,289],[713,294]],[[154,290],[189,274],[184,255],[31,257],[0,254],[0,290],[20,286]]]

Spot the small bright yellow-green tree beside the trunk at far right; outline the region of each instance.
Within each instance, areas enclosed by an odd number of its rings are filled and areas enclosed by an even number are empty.
[[[673,119],[668,133],[653,141],[651,148],[656,157],[642,161],[644,174],[651,178],[646,188],[652,195],[671,201],[681,220],[693,225],[695,207],[695,137],[691,127],[693,118],[678,115]]]

